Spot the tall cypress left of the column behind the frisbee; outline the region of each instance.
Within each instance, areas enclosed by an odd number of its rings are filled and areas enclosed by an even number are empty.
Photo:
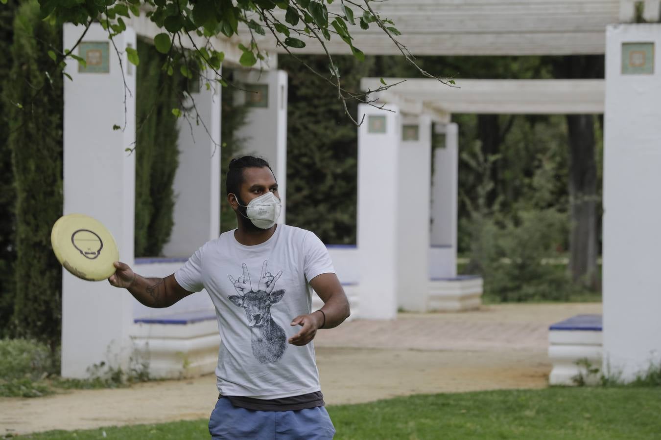
[[[48,50],[61,51],[61,28],[40,19],[36,1],[20,4],[14,20],[9,102],[9,146],[17,190],[16,293],[18,336],[55,350],[60,340],[61,267],[50,230],[62,213],[62,80]],[[49,80],[45,72],[50,71]],[[40,89],[40,90],[38,90]],[[38,91],[37,91],[38,90]]]

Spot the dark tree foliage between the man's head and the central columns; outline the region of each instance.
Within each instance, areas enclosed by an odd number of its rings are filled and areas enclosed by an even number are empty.
[[[303,60],[313,67],[325,63],[319,56]],[[358,63],[348,56],[336,57],[336,63],[346,86],[356,90],[373,67],[373,61]],[[280,57],[280,68],[290,72],[287,222],[315,231],[324,243],[356,243],[356,127],[346,124],[342,103],[323,80],[297,73],[292,57]],[[349,111],[356,115],[356,102]]]

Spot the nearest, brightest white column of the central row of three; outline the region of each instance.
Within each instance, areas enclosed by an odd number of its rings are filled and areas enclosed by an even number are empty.
[[[397,317],[399,279],[399,142],[401,115],[358,106],[358,225],[360,316]]]

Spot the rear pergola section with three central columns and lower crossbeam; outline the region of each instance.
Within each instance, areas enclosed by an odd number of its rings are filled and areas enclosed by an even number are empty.
[[[360,283],[370,286],[361,292],[361,304],[370,304],[368,310],[362,305],[362,314],[392,319],[398,307],[428,311],[453,297],[461,308],[463,296],[474,306],[474,280],[456,276],[459,152],[451,113],[603,113],[605,82],[465,79],[455,87],[435,79],[385,82],[401,83],[372,96],[373,105],[359,106],[359,117],[365,115],[358,129]],[[361,82],[362,90],[379,84],[379,78]],[[433,176],[432,123],[446,135],[444,148],[433,154]],[[397,203],[371,197],[382,192]]]

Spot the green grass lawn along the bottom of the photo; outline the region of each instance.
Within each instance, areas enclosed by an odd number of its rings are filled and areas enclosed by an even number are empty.
[[[659,439],[660,387],[428,394],[329,406],[336,439]],[[208,420],[50,431],[33,439],[208,439]],[[106,437],[103,437],[105,433]]]

